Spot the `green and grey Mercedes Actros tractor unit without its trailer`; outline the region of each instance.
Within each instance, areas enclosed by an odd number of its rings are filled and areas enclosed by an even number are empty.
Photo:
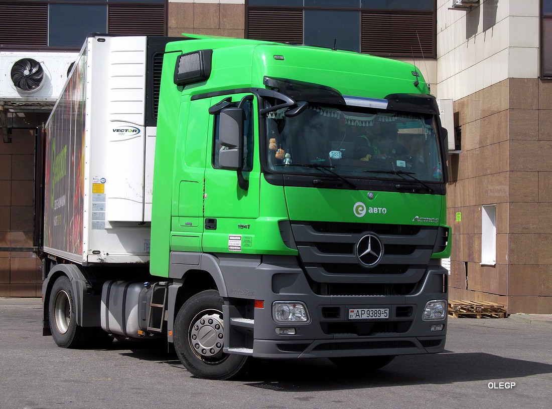
[[[447,136],[416,67],[204,36],[156,56],[148,260],[73,262],[78,273],[62,276],[98,289],[74,317],[63,308],[79,297],[58,305],[52,292],[66,267],[46,267],[45,332],[60,332],[58,319],[97,327],[78,318],[86,305],[100,331],[166,336],[211,379],[250,357],[377,369],[442,352]]]

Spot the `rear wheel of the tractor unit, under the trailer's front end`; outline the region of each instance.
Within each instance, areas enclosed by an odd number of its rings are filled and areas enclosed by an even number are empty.
[[[56,344],[62,348],[77,348],[94,335],[94,327],[77,325],[75,294],[71,282],[65,276],[54,282],[48,303],[50,331]]]

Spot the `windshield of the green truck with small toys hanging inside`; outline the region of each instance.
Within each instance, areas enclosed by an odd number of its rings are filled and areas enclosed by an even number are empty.
[[[267,161],[277,173],[442,182],[431,115],[309,104],[267,114]],[[405,177],[408,175],[410,177]]]

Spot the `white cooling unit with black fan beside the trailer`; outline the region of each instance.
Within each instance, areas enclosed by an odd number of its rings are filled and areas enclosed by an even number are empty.
[[[72,52],[0,52],[0,101],[53,105],[77,57]]]

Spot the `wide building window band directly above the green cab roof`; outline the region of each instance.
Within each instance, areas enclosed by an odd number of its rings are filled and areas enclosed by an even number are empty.
[[[436,0],[248,0],[246,37],[436,58],[436,7]]]

